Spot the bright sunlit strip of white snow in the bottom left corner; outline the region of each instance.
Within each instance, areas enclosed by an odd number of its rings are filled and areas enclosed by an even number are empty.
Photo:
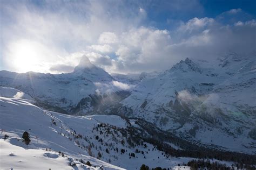
[[[21,140],[17,141],[16,138],[0,139],[0,145],[1,169],[72,169],[69,166],[71,159],[62,157],[58,152],[45,151],[44,149],[27,149],[27,146]],[[78,160],[74,162],[76,169],[99,169],[99,167],[84,165]],[[116,168],[118,167],[109,165],[106,169]]]

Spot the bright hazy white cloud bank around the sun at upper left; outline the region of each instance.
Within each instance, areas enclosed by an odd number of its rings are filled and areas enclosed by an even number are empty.
[[[60,4],[62,4],[61,10],[58,8]],[[134,22],[112,11],[107,12],[110,9],[108,5],[110,4],[96,1],[90,3],[46,2],[44,8],[25,1],[15,2],[15,5],[12,2],[2,4],[0,20],[4,25],[1,25],[0,58],[3,60],[3,69],[16,72],[28,70],[52,72],[51,68],[54,69],[54,65],[59,65],[58,68],[64,68],[63,72],[66,72],[67,67],[60,66],[75,67],[83,54],[92,51],[111,53],[112,47],[107,44],[117,42],[115,32],[123,32],[127,25],[132,25],[131,23],[134,24]],[[114,8],[112,6],[111,9]],[[75,12],[70,12],[73,10]],[[113,11],[117,12],[117,10]],[[136,19],[136,22],[139,21]],[[12,61],[14,52],[17,53],[15,61],[26,60],[23,55],[26,56],[27,52],[24,54],[17,51],[17,46],[24,43],[15,45],[23,39],[28,39],[30,46],[41,46],[35,48],[37,50],[35,59],[39,61],[33,67],[24,67],[26,70],[19,69],[13,65]],[[98,45],[98,40],[107,43]],[[84,51],[87,46],[91,46],[88,52]],[[74,57],[73,54],[77,53],[81,54]]]

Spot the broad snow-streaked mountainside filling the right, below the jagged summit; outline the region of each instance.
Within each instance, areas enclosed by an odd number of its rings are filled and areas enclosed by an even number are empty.
[[[186,59],[140,82],[122,101],[127,116],[226,150],[256,153],[255,55],[208,63]],[[216,138],[218,136],[218,138]]]

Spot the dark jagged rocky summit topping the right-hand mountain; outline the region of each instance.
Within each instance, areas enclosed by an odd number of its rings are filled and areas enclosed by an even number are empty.
[[[171,70],[181,70],[183,72],[198,72],[202,73],[203,70],[199,67],[199,65],[193,62],[191,59],[186,58],[184,61],[181,60],[176,65],[174,65]]]

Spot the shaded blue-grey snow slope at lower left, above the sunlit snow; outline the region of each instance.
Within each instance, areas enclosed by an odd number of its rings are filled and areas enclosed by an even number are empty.
[[[62,151],[73,158],[84,159],[86,161],[89,160],[93,165],[96,165],[96,166],[103,165],[106,168],[119,169],[118,167],[112,166],[103,161],[86,156],[87,155],[86,150],[81,150],[79,147],[73,144],[68,139],[68,137],[64,136],[64,133],[59,134],[61,132],[66,132],[67,134],[71,132],[70,132],[70,129],[63,128],[63,126],[64,127],[66,126],[65,124],[59,124],[60,126],[53,126],[51,121],[53,117],[48,112],[45,112],[35,107],[35,105],[32,105],[26,101],[14,99],[14,98],[10,99],[10,98],[1,97],[0,103],[1,103],[0,124],[3,129],[1,136],[3,136],[4,134],[8,134],[8,136],[14,137],[14,138],[11,138],[11,140],[9,140],[10,144],[18,145],[18,146],[29,148],[29,149],[30,148],[31,149],[51,148],[55,152]],[[30,137],[32,141],[29,146],[25,146],[19,139],[21,138],[22,133],[24,131],[28,131],[30,133]],[[8,145],[8,144],[3,143],[3,145]],[[1,146],[1,150],[3,148],[4,147]],[[15,150],[17,150],[17,152],[20,152],[22,151],[22,148],[14,147],[14,151]],[[9,150],[9,151],[12,152],[12,150]],[[32,154],[33,150],[28,151],[27,153],[24,153],[24,157],[25,157],[24,159],[29,159],[26,157],[26,154],[29,154],[29,153]],[[42,154],[42,153],[44,153],[44,151],[41,151],[41,152],[35,151],[35,154]],[[78,153],[80,154],[78,155]],[[2,151],[1,151],[1,154],[2,154]],[[38,159],[38,161],[40,161],[40,159]],[[64,160],[60,159],[60,161],[64,161]],[[65,162],[67,162],[67,160],[65,160]],[[49,162],[49,164],[52,164],[52,163],[53,162]],[[9,164],[9,166],[11,165],[13,164]]]

